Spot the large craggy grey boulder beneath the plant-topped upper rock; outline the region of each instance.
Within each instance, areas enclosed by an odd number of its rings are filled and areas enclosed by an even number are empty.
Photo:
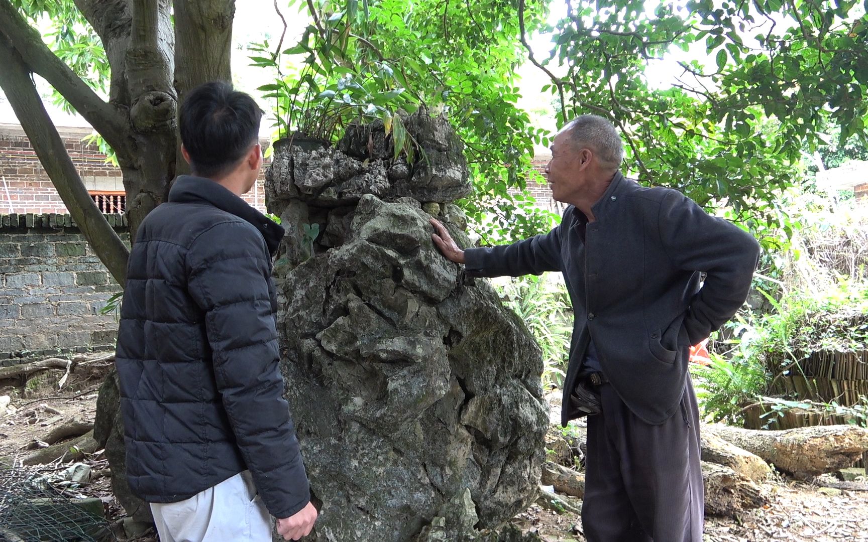
[[[315,540],[471,539],[536,491],[539,349],[439,254],[420,207],[362,196],[345,244],[278,280],[287,398],[323,501]]]

